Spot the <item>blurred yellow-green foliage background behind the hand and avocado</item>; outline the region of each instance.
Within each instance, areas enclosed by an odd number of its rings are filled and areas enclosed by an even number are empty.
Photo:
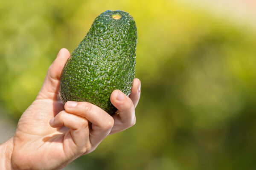
[[[255,170],[256,27],[232,6],[219,4],[223,13],[195,2],[2,1],[0,116],[9,123],[0,138],[35,99],[59,49],[72,52],[100,13],[119,9],[138,29],[137,123],[67,169]]]

